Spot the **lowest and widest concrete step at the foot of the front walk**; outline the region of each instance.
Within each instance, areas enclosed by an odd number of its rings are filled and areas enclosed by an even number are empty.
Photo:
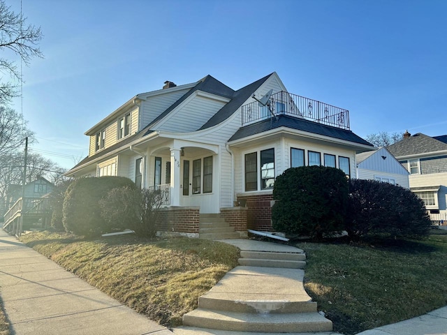
[[[183,325],[232,332],[330,332],[332,322],[314,313],[237,313],[198,308],[183,315]]]

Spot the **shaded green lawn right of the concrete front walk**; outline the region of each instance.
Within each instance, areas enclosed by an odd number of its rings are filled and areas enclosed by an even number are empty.
[[[342,334],[423,315],[447,304],[447,236],[367,244],[300,243],[305,288]]]

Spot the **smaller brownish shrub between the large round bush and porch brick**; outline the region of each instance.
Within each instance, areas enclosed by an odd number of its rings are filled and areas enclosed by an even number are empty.
[[[154,237],[161,206],[161,193],[124,186],[113,188],[100,200],[101,215],[113,227],[129,228],[144,237]]]

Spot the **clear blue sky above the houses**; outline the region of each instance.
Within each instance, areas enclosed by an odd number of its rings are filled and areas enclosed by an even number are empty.
[[[22,10],[44,34],[45,58],[23,69],[31,149],[64,168],[87,156],[85,131],[135,94],[208,74],[240,89],[276,71],[291,93],[348,109],[362,137],[447,134],[444,0],[22,0]]]

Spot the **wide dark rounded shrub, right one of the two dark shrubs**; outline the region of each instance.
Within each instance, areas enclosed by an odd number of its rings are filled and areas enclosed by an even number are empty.
[[[401,186],[374,180],[349,182],[346,230],[350,237],[389,234],[420,237],[430,230],[430,217],[423,200]]]

